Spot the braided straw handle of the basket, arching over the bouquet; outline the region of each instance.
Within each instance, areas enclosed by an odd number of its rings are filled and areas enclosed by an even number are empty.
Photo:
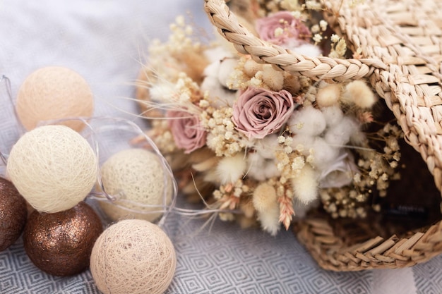
[[[379,59],[332,59],[296,54],[264,42],[242,26],[224,0],[204,0],[204,10],[217,31],[241,54],[249,54],[258,63],[267,63],[294,75],[313,80],[357,80],[368,77],[376,68],[387,66]]]

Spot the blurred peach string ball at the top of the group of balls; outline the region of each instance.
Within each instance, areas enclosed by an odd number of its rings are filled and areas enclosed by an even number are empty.
[[[16,110],[26,130],[32,130],[39,121],[77,116],[92,116],[93,95],[81,75],[69,68],[48,66],[31,73],[18,90]],[[80,131],[84,123],[64,121],[73,130]]]

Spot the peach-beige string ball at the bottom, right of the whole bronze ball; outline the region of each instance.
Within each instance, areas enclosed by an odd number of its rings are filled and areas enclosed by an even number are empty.
[[[174,277],[174,245],[160,227],[141,219],[109,226],[90,255],[90,271],[104,294],[164,293]]]

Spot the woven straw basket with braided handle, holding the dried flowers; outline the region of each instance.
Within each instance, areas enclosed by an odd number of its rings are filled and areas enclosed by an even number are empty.
[[[362,59],[309,58],[270,45],[246,30],[222,0],[205,0],[205,11],[237,51],[258,62],[313,80],[369,80],[414,148],[411,157],[431,173],[426,182],[418,169],[412,169],[410,177],[412,185],[436,191],[436,202],[431,202],[436,220],[423,226],[406,219],[418,227],[395,232],[395,226],[389,227],[380,216],[338,221],[324,213],[297,222],[294,231],[318,264],[333,271],[357,271],[426,262],[442,252],[442,1],[366,0],[352,8],[341,0],[322,2],[328,11],[325,20],[347,39],[350,49],[362,49]],[[400,193],[404,199],[414,196],[426,202],[426,191]]]

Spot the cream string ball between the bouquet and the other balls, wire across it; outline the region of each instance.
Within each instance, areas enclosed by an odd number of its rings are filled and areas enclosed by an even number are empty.
[[[125,200],[100,202],[104,213],[113,221],[129,218],[154,221],[161,216],[160,212],[154,212],[160,207],[143,207],[143,204],[163,204],[165,188],[166,203],[172,198],[172,181],[169,179],[165,183],[165,171],[160,159],[146,149],[124,149],[112,155],[102,165],[101,174],[104,190]]]

